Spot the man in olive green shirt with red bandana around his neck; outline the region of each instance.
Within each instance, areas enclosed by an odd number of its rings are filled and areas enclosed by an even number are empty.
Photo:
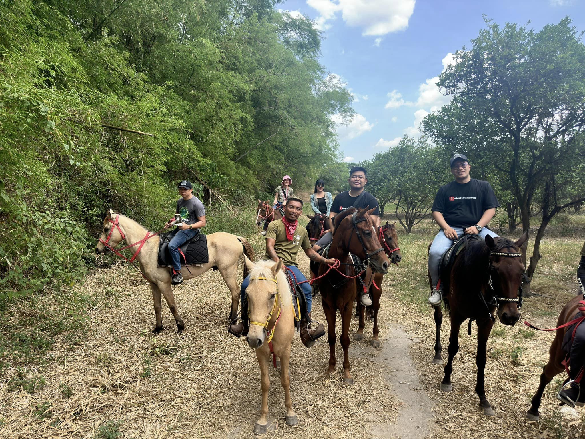
[[[289,197],[284,205],[284,218],[270,222],[266,232],[266,257],[274,260],[274,262],[282,259],[284,266],[294,274],[294,276],[291,276],[293,281],[296,279],[297,283],[307,280],[297,266],[297,254],[301,248],[311,260],[328,265],[335,263],[335,259],[325,259],[312,249],[307,229],[299,227],[298,224],[298,217],[301,215],[302,200]],[[284,270],[287,270],[287,268],[283,267]],[[244,294],[249,283],[250,276],[247,276],[240,287],[242,308],[244,307]],[[315,329],[308,328],[308,322],[311,321],[311,284],[304,282],[300,284],[300,287],[305,299],[307,299],[308,314],[308,319],[304,318],[301,324],[301,340],[306,347],[310,348],[315,344],[317,338],[325,335],[325,330],[321,323]],[[240,335],[247,335],[247,330],[247,313],[242,309],[242,323],[229,325],[228,331],[239,337]]]

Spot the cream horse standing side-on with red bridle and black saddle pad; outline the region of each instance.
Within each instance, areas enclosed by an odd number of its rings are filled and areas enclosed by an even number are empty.
[[[146,239],[147,236],[151,237]],[[95,251],[104,253],[107,250],[113,250],[123,239],[128,243],[126,247],[130,246],[136,252],[130,260],[136,259],[140,263],[140,272],[150,283],[154,300],[154,314],[156,315],[154,334],[158,334],[163,330],[163,320],[160,315],[161,294],[167,301],[171,313],[173,313],[177,323],[177,332],[183,332],[185,324],[177,311],[173,290],[171,289],[170,269],[158,266],[159,236],[147,231],[133,219],[110,210],[108,216],[104,219],[104,228],[99,237],[99,242],[95,246]],[[136,245],[132,246],[134,243]],[[139,243],[140,245],[138,245]],[[217,267],[232,294],[230,319],[235,320],[238,317],[240,298],[240,290],[236,281],[239,260],[242,254],[249,258],[254,258],[254,250],[242,236],[225,232],[215,232],[207,235],[207,249],[209,252],[208,263],[203,264],[201,267],[189,267],[190,272],[184,269],[181,274],[183,274],[183,279],[192,279],[192,277],[197,277],[212,267]],[[244,276],[246,276],[246,270],[244,270]]]

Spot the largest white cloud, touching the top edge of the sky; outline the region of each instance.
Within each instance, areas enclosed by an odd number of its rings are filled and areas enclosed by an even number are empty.
[[[408,28],[415,0],[307,0],[307,4],[319,12],[319,29],[331,28],[326,22],[341,12],[348,26],[362,28],[362,35],[379,36]]]

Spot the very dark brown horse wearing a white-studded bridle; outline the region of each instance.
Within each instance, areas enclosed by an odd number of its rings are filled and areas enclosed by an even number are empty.
[[[472,235],[473,236],[473,235]],[[495,311],[501,323],[513,326],[520,318],[518,308],[522,306],[521,290],[524,263],[520,249],[528,241],[524,232],[518,241],[507,238],[466,235],[465,248],[455,256],[450,273],[450,291],[443,294],[443,304],[450,312],[451,334],[449,336],[449,360],[445,365],[445,376],[441,382],[443,392],[451,392],[453,358],[459,351],[459,327],[470,319],[477,322],[477,383],[476,393],[484,414],[494,414],[486,398],[484,378],[486,371],[486,347],[491,328],[495,323]],[[439,328],[437,330],[439,333]]]

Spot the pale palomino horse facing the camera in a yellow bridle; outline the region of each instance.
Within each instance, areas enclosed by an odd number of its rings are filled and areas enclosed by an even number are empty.
[[[295,332],[295,315],[292,307],[292,294],[284,274],[283,261],[260,260],[255,264],[244,257],[250,284],[246,288],[250,330],[246,341],[250,348],[256,349],[260,365],[260,386],[262,388],[262,407],[260,419],[256,421],[254,433],[264,434],[268,420],[268,378],[270,354],[280,358],[280,383],[284,389],[284,406],[287,409],[285,422],[297,425],[297,415],[292,410],[289,390],[288,363],[291,356],[291,342]],[[276,358],[276,357],[275,357]]]

